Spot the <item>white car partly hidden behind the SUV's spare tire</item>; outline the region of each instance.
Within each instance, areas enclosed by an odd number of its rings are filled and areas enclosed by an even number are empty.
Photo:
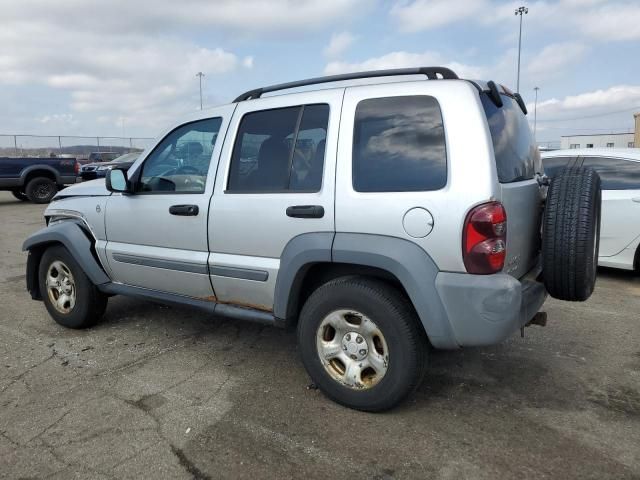
[[[584,148],[541,154],[550,177],[566,165],[591,167],[600,174],[598,265],[640,270],[640,148]]]

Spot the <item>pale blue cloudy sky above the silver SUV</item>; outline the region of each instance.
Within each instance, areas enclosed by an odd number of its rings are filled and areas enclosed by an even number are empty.
[[[0,0],[0,133],[122,135],[124,123],[127,136],[155,136],[199,108],[198,71],[205,107],[406,66],[515,89],[521,4],[520,90],[533,110],[540,87],[538,138],[632,128],[638,0]]]

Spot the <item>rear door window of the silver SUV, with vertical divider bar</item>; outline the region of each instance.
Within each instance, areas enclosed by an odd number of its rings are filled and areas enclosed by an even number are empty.
[[[326,104],[246,114],[233,147],[227,191],[319,191],[328,123]]]

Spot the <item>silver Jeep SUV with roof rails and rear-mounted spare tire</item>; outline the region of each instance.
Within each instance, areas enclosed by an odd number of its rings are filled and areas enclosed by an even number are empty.
[[[598,177],[548,187],[525,114],[439,67],[252,90],[60,192],[24,244],[28,290],[71,328],[116,294],[297,325],[326,395],[388,409],[430,348],[500,342],[544,321],[547,292],[593,291]]]

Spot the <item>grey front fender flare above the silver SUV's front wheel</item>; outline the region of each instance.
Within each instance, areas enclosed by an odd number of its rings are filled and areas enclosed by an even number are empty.
[[[42,299],[38,284],[38,268],[42,254],[53,244],[64,245],[94,285],[102,285],[110,281],[94,256],[91,238],[80,222],[63,221],[37,231],[22,244],[22,250],[29,252],[26,272],[27,290],[34,300]]]

